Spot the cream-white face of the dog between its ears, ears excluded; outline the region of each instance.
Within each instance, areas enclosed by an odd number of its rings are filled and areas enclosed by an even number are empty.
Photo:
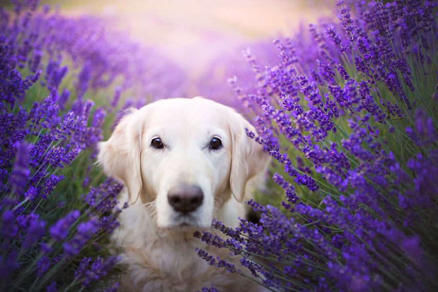
[[[165,107],[152,105],[143,131],[143,194],[156,200],[159,226],[209,225],[214,204],[231,194],[224,183],[232,156],[226,115],[204,102],[167,101]]]

